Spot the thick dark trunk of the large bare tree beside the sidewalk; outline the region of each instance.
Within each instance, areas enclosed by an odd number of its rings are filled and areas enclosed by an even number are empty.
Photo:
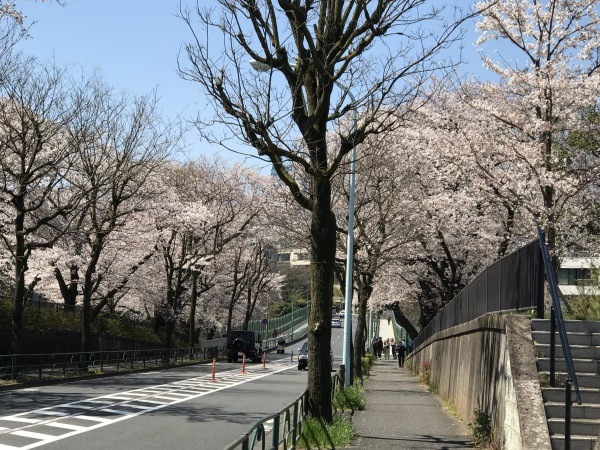
[[[331,422],[331,307],[336,249],[331,184],[314,177],[311,223],[311,309],[308,328],[308,403],[310,413]]]

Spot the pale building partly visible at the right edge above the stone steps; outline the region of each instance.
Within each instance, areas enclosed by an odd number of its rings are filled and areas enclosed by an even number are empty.
[[[600,257],[564,258],[556,282],[565,296],[600,295]]]

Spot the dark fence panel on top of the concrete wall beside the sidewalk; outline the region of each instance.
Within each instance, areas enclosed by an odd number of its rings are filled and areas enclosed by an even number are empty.
[[[543,262],[538,240],[488,266],[438,312],[414,340],[431,336],[488,313],[536,309],[543,314]]]

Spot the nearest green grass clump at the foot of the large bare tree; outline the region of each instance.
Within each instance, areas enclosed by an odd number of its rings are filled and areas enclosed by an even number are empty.
[[[347,447],[354,437],[350,419],[335,416],[331,424],[320,419],[307,418],[302,425],[302,435],[296,448],[333,449]]]

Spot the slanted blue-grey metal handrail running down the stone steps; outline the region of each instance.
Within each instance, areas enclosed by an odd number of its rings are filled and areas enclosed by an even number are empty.
[[[569,376],[567,381],[570,381],[575,388],[575,397],[577,403],[581,405],[581,395],[579,393],[579,383],[577,382],[577,374],[575,373],[575,365],[573,364],[573,355],[571,354],[571,347],[569,346],[569,338],[567,336],[567,330],[565,327],[565,320],[562,315],[562,308],[560,306],[560,298],[558,296],[558,285],[554,278],[554,270],[550,262],[550,252],[544,239],[544,233],[539,225],[537,225],[538,240],[540,241],[540,248],[542,251],[542,258],[544,260],[544,269],[546,271],[546,279],[548,280],[548,287],[550,288],[550,296],[552,297],[552,310],[554,312],[554,323],[558,328],[558,334],[560,336],[560,343],[562,345],[563,357],[565,365],[567,367],[567,374]],[[553,350],[552,348],[550,349]],[[555,356],[552,355],[552,358]],[[554,361],[551,361],[552,369],[554,368]],[[550,374],[551,378],[554,378],[554,374]]]

